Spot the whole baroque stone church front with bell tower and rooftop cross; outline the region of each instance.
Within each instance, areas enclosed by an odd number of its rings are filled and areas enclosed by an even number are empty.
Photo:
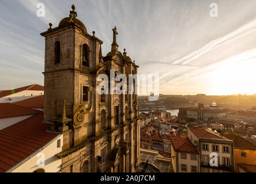
[[[137,95],[97,93],[99,74],[137,74],[138,66],[118,51],[116,28],[111,52],[77,19],[75,6],[46,39],[44,121],[63,134],[62,172],[134,172],[140,164]],[[108,86],[110,88],[110,86]],[[109,89],[110,91],[110,89]]]

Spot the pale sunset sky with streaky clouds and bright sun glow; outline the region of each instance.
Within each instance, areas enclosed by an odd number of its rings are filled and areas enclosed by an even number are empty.
[[[45,17],[37,17],[37,3]],[[103,55],[116,26],[119,51],[126,48],[139,74],[160,75],[160,93],[256,93],[255,0],[1,0],[1,90],[44,84],[40,33],[68,17],[73,3],[88,33],[103,41]]]

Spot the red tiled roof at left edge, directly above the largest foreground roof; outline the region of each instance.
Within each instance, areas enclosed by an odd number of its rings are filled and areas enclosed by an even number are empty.
[[[0,118],[25,116],[30,114],[38,114],[39,110],[25,108],[10,103],[0,103]]]

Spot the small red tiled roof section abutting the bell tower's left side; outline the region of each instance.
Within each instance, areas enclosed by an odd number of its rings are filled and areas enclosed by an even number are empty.
[[[13,104],[24,106],[26,108],[44,108],[44,95],[25,99],[19,102],[15,102]]]

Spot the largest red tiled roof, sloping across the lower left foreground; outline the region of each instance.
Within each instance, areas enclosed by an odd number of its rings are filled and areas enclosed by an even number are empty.
[[[3,173],[58,134],[46,132],[51,124],[43,121],[43,113],[36,114],[0,131],[0,173]]]

